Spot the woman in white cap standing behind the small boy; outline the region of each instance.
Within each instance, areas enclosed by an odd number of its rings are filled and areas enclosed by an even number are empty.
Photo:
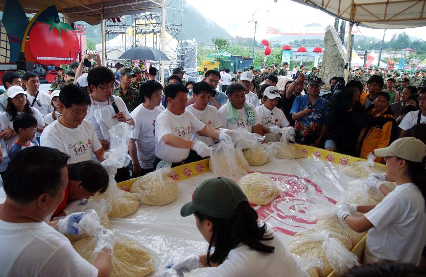
[[[30,107],[29,101],[26,99],[26,92],[19,85],[9,87],[7,91],[7,107],[1,115],[1,133],[7,141],[7,148],[12,147],[17,138],[16,132],[13,130],[13,121],[21,113],[28,113],[37,119],[37,131],[42,132],[45,128],[42,114],[33,107]],[[34,138],[35,139],[35,138]],[[39,138],[38,138],[39,139]],[[38,141],[40,144],[40,141]]]

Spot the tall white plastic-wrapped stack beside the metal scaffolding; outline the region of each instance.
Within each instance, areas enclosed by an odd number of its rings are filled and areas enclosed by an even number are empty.
[[[186,70],[188,81],[196,81],[198,78],[197,72],[197,43],[187,40],[179,43],[179,62]]]

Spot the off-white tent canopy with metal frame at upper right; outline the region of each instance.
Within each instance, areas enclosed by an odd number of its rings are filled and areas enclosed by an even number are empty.
[[[293,0],[374,29],[426,26],[426,0]]]

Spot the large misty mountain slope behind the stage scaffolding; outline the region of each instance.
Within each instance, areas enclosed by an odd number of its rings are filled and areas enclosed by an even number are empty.
[[[181,24],[181,13],[179,10],[178,0],[167,0],[168,8],[166,9],[166,22],[168,24]],[[131,16],[126,16],[128,24],[132,24]],[[77,21],[76,23],[85,23],[84,21]],[[172,36],[174,34],[171,34]],[[101,32],[100,24],[92,26],[86,23],[86,36],[95,39],[96,43],[100,43]],[[214,37],[224,39],[233,38],[224,28],[217,25],[215,22],[210,21],[203,17],[194,7],[190,6],[185,0],[183,1],[183,17],[182,17],[182,40],[192,40],[195,37],[198,43],[212,44]],[[108,38],[108,37],[107,37]],[[110,36],[108,39],[113,39]],[[180,36],[176,36],[180,40]]]

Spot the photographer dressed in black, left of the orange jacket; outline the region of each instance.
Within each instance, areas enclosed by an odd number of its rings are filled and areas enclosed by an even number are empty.
[[[355,155],[356,140],[370,119],[367,109],[358,102],[362,88],[362,83],[354,80],[346,86],[343,83],[334,85],[329,114],[325,118],[326,150]]]

